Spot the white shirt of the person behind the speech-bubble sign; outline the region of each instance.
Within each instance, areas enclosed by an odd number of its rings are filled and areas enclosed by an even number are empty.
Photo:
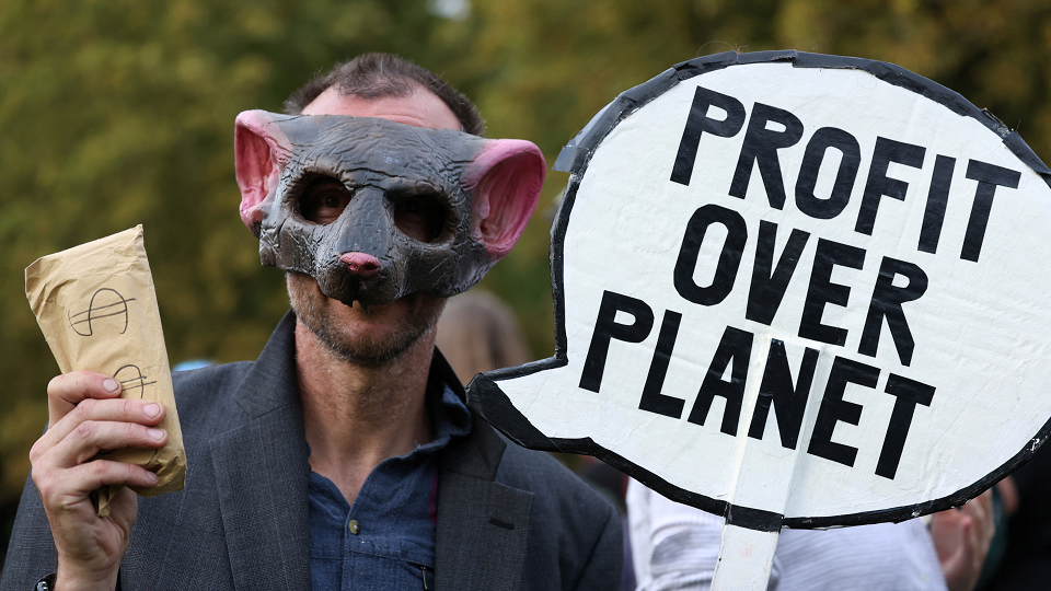
[[[638,591],[707,591],[723,518],[627,488]],[[836,530],[782,530],[767,591],[946,591],[920,520]]]

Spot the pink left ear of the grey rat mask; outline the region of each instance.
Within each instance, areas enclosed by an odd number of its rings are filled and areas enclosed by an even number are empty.
[[[275,115],[245,111],[234,124],[233,148],[238,186],[241,187],[241,221],[255,232],[263,221],[264,205],[277,186],[281,166],[288,162],[291,144],[281,134]]]

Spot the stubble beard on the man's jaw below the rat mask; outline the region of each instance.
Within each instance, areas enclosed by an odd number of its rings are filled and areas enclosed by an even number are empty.
[[[438,317],[444,308],[444,300],[409,294],[409,312],[397,320],[394,327],[383,335],[371,332],[355,336],[340,331],[345,321],[331,313],[332,306],[344,303],[326,298],[310,276],[297,273],[286,274],[288,296],[292,311],[311,333],[332,350],[333,354],[365,367],[380,367],[396,359],[408,350],[424,335],[436,328]],[[360,304],[359,304],[360,305]]]

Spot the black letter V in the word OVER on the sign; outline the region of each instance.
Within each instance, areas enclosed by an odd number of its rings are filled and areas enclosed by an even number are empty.
[[[777,224],[759,222],[759,243],[755,245],[755,263],[752,266],[752,283],[748,289],[748,309],[744,317],[770,326],[785,298],[788,281],[796,271],[802,248],[810,239],[808,232],[793,229],[785,250],[774,267],[774,245],[777,241]]]

